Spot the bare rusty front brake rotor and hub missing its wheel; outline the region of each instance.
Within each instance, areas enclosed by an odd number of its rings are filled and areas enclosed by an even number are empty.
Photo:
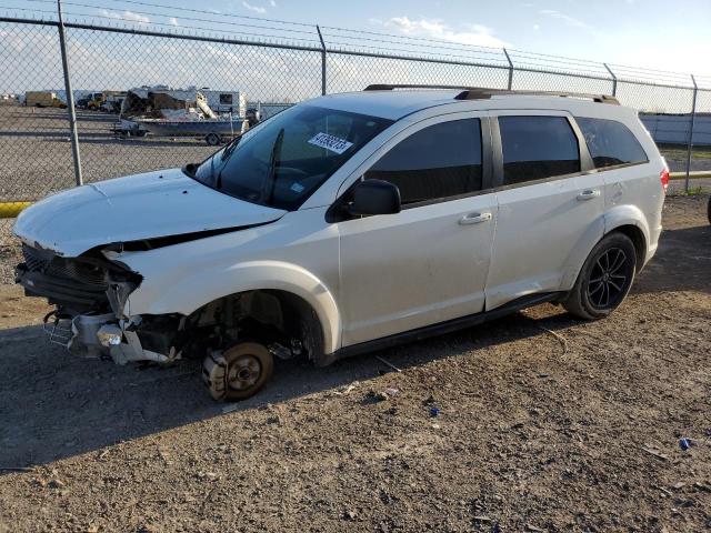
[[[257,394],[271,378],[274,358],[258,342],[240,342],[213,352],[202,363],[202,379],[219,402],[244,400]]]

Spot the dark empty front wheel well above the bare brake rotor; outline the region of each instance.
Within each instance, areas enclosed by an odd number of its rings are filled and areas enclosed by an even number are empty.
[[[263,344],[301,342],[307,355],[323,356],[323,330],[313,308],[288,291],[254,290],[230,294],[190,315],[193,328],[219,328],[226,344],[252,339]]]

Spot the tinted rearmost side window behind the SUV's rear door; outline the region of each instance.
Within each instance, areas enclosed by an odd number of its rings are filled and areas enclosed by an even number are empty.
[[[597,169],[644,163],[647,153],[634,134],[621,122],[575,117]]]

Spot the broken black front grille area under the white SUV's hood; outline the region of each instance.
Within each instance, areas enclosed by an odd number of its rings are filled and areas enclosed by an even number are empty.
[[[68,313],[107,311],[107,270],[88,259],[64,259],[51,251],[22,247],[24,262],[16,269],[16,282],[30,296],[47,298]]]

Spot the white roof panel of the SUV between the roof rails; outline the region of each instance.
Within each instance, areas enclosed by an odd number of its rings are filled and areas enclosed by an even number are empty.
[[[408,114],[438,105],[453,105],[462,110],[487,109],[557,109],[577,111],[581,108],[594,110],[598,114],[605,108],[625,109],[620,105],[601,104],[592,99],[561,98],[561,94],[527,92],[492,92],[483,99],[462,99],[462,89],[417,89],[417,90],[365,90],[328,94],[311,100],[313,105],[339,109],[352,113],[399,120]],[[459,97],[459,98],[458,98]],[[503,103],[505,102],[505,103]],[[617,101],[615,101],[617,102]],[[622,111],[624,113],[625,111]]]

